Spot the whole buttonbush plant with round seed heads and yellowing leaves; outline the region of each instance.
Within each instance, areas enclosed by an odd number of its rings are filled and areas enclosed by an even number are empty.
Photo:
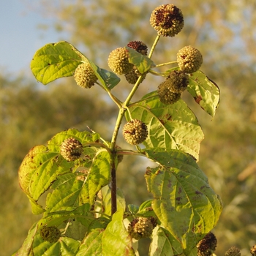
[[[159,39],[176,37],[184,27],[178,7],[163,4],[148,18],[148,26],[156,30],[151,49],[140,41],[120,45],[105,60],[109,70],[69,42],[49,43],[34,54],[31,71],[39,82],[47,85],[73,76],[85,90],[99,86],[116,104],[118,116],[110,141],[93,127],[67,129],[47,145],[31,148],[18,177],[32,213],[42,218],[14,255],[138,255],[135,244],[146,237],[151,238],[152,256],[214,252],[217,240],[211,230],[217,225],[222,202],[197,165],[204,135],[181,96],[187,90],[214,117],[219,88],[200,70],[203,56],[195,46],[181,48],[173,59],[166,56],[165,63],[154,63]],[[159,72],[158,67],[166,68]],[[151,75],[160,76],[161,83],[132,101]],[[132,84],[124,101],[112,92],[121,80]],[[118,147],[118,134],[133,149]],[[144,174],[152,199],[140,206],[126,205],[117,188],[118,164],[126,154],[154,162]]]

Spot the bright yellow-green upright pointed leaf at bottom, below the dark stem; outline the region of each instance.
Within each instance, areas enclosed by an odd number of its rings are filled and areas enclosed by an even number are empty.
[[[123,223],[123,211],[116,211],[102,236],[102,256],[134,256],[132,238]]]

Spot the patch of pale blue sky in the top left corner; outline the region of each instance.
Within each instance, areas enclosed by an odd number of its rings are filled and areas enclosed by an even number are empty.
[[[33,3],[33,1],[31,0]],[[28,1],[0,1],[0,68],[5,74],[30,74],[29,64],[37,49],[61,39],[53,28],[38,29],[39,24],[50,25],[53,20],[42,17]]]

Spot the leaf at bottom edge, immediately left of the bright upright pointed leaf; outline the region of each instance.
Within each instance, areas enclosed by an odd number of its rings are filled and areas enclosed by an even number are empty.
[[[92,230],[86,238],[83,239],[76,256],[97,256],[102,255],[102,235],[103,229],[96,228]]]

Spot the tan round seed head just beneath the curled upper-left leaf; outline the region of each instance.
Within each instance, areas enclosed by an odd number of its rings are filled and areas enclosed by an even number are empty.
[[[97,76],[94,74],[94,70],[89,63],[78,65],[75,69],[74,78],[78,86],[86,89],[94,86],[94,83],[97,81]]]

